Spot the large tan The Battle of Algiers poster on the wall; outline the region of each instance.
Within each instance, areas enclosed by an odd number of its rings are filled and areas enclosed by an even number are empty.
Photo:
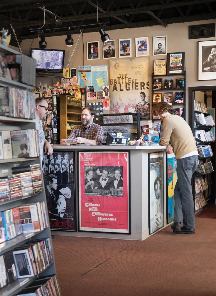
[[[111,113],[139,112],[150,120],[149,57],[109,61]]]

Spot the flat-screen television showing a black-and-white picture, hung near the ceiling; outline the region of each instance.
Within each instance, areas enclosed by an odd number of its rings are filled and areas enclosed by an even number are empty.
[[[63,72],[65,50],[31,48],[31,57],[36,60],[38,72]]]

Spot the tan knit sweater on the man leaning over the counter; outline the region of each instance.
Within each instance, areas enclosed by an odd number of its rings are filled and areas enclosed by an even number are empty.
[[[161,145],[167,146],[169,143],[173,146],[176,159],[196,150],[190,126],[178,115],[170,114],[163,120]]]

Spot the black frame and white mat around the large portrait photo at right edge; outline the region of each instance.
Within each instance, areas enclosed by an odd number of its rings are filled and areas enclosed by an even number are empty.
[[[216,71],[202,72],[204,47],[209,47],[209,50],[212,47],[216,47],[216,40],[199,41],[198,42],[198,80],[215,80],[216,79]],[[207,59],[207,58],[208,57],[205,56],[205,59]]]

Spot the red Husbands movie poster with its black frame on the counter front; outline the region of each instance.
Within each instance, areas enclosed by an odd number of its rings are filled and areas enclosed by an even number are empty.
[[[78,152],[79,231],[130,234],[129,153]]]

